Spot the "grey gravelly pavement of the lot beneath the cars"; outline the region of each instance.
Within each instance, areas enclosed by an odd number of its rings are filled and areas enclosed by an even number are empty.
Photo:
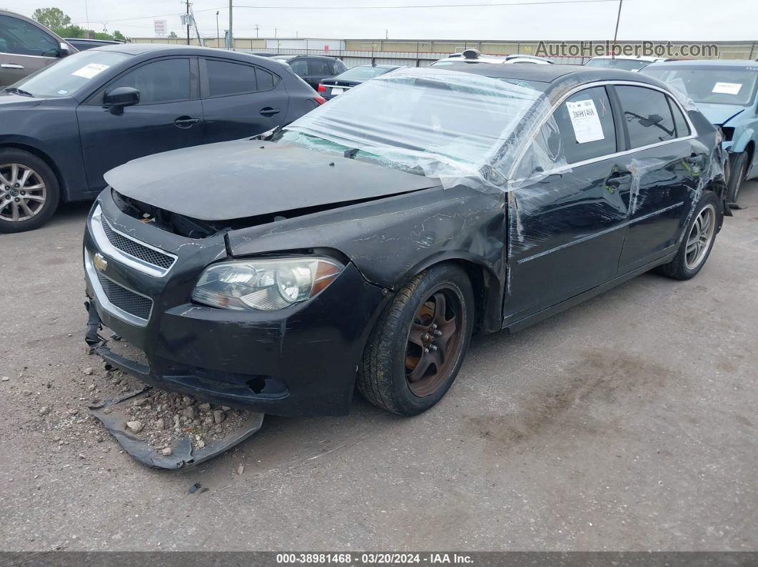
[[[137,385],[85,353],[88,205],[0,235],[0,547],[756,550],[758,183],[742,200],[700,276],[475,338],[424,415],[356,394],[184,472],[140,466],[86,410]]]

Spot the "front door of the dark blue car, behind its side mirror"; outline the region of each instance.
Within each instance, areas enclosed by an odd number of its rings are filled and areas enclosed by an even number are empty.
[[[77,108],[89,189],[105,187],[103,174],[129,160],[202,144],[197,59],[173,57],[138,64]],[[139,90],[139,104],[123,113],[103,107],[105,92]]]

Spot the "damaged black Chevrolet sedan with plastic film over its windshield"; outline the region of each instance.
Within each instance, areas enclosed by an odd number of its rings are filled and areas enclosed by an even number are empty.
[[[347,413],[356,385],[428,410],[472,333],[650,269],[689,279],[728,214],[694,107],[639,73],[559,65],[399,70],[263,139],[105,179],[89,344],[150,384],[285,416]]]

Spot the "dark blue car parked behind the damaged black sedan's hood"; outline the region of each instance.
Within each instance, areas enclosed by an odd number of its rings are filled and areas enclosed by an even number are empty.
[[[95,198],[127,161],[256,136],[323,102],[289,67],[245,53],[119,44],[70,55],[0,92],[0,232]]]

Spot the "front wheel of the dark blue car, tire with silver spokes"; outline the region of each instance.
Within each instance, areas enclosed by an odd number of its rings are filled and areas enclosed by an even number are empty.
[[[11,168],[16,165],[27,170],[31,170],[25,185],[18,184],[5,185],[5,181],[12,182]],[[20,171],[19,167],[16,171]],[[20,181],[20,179],[17,179]],[[44,185],[43,189],[34,189],[40,184]],[[29,192],[25,188],[32,189]],[[23,192],[23,194],[22,194]],[[44,201],[39,201],[44,196]],[[8,201],[13,199],[13,202]],[[61,199],[61,190],[58,186],[58,178],[44,160],[28,151],[17,150],[14,148],[0,149],[0,232],[24,232],[39,228],[50,220],[55,210],[58,208],[58,202]],[[19,207],[22,203],[27,209],[32,211],[29,214]],[[17,217],[25,220],[13,220],[13,207],[17,209]],[[6,218],[7,217],[7,218]]]

